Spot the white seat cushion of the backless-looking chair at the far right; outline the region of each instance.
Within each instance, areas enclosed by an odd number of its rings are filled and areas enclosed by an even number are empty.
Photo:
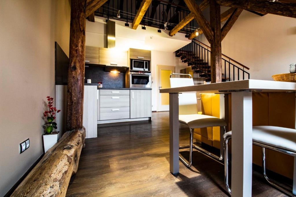
[[[231,131],[223,135],[231,136]],[[296,130],[277,126],[253,126],[253,141],[296,152]]]

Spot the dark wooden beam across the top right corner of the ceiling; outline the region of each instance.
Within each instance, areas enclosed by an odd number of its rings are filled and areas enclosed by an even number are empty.
[[[296,18],[296,3],[279,3],[258,0],[216,0],[216,2],[221,6]]]

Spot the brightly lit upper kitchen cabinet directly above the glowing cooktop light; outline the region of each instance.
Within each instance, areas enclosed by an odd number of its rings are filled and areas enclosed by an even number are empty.
[[[128,52],[115,48],[99,48],[99,64],[107,66],[128,66]]]

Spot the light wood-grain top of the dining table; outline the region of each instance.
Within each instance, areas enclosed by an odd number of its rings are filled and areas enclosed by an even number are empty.
[[[186,87],[160,89],[160,93],[199,92],[199,93],[225,93],[237,91],[258,92],[296,92],[296,83],[277,82],[256,79],[221,82],[213,84],[201,84]]]

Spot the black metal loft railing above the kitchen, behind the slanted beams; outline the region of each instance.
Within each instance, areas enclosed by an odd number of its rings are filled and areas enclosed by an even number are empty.
[[[94,14],[107,19],[125,21],[126,25],[132,23],[141,4],[141,0],[109,0],[97,9]],[[190,13],[185,2],[174,4],[172,0],[152,0],[140,25],[172,30],[182,19]],[[165,23],[167,23],[165,25]],[[130,24],[131,25],[131,24]],[[192,20],[179,32],[190,34],[197,28],[197,22]]]

